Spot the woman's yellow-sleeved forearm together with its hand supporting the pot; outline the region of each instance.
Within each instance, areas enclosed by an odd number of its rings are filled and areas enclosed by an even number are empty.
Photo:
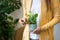
[[[47,30],[49,27],[52,27],[53,25],[59,23],[60,21],[60,15],[54,17],[49,23],[43,25],[42,27],[37,27],[33,32],[38,34],[40,33],[40,31],[45,31]]]

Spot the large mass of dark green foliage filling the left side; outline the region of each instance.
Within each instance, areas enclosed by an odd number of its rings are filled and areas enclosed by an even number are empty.
[[[18,19],[9,14],[20,7],[20,0],[0,0],[0,40],[12,40]]]

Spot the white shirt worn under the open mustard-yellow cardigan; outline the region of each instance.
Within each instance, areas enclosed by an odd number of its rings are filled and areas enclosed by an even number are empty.
[[[33,0],[31,11],[34,13],[38,13],[38,17],[37,17],[37,26],[38,26],[39,21],[41,19],[41,0]],[[31,39],[38,39],[39,36],[37,34],[34,34],[31,32],[30,38]]]

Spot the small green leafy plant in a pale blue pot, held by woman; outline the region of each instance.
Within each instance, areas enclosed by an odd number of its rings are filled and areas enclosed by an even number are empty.
[[[30,27],[30,31],[33,31],[34,29],[37,28],[37,17],[38,17],[37,13],[34,14],[34,13],[30,12],[28,14],[28,24]]]

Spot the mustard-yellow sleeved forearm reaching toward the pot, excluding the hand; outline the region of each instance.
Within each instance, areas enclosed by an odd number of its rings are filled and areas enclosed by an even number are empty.
[[[60,16],[53,18],[49,23],[47,23],[47,24],[45,24],[45,25],[43,25],[43,26],[41,27],[41,31],[42,31],[42,30],[46,30],[46,29],[48,29],[49,27],[54,26],[55,24],[59,23],[59,21],[60,21]]]

